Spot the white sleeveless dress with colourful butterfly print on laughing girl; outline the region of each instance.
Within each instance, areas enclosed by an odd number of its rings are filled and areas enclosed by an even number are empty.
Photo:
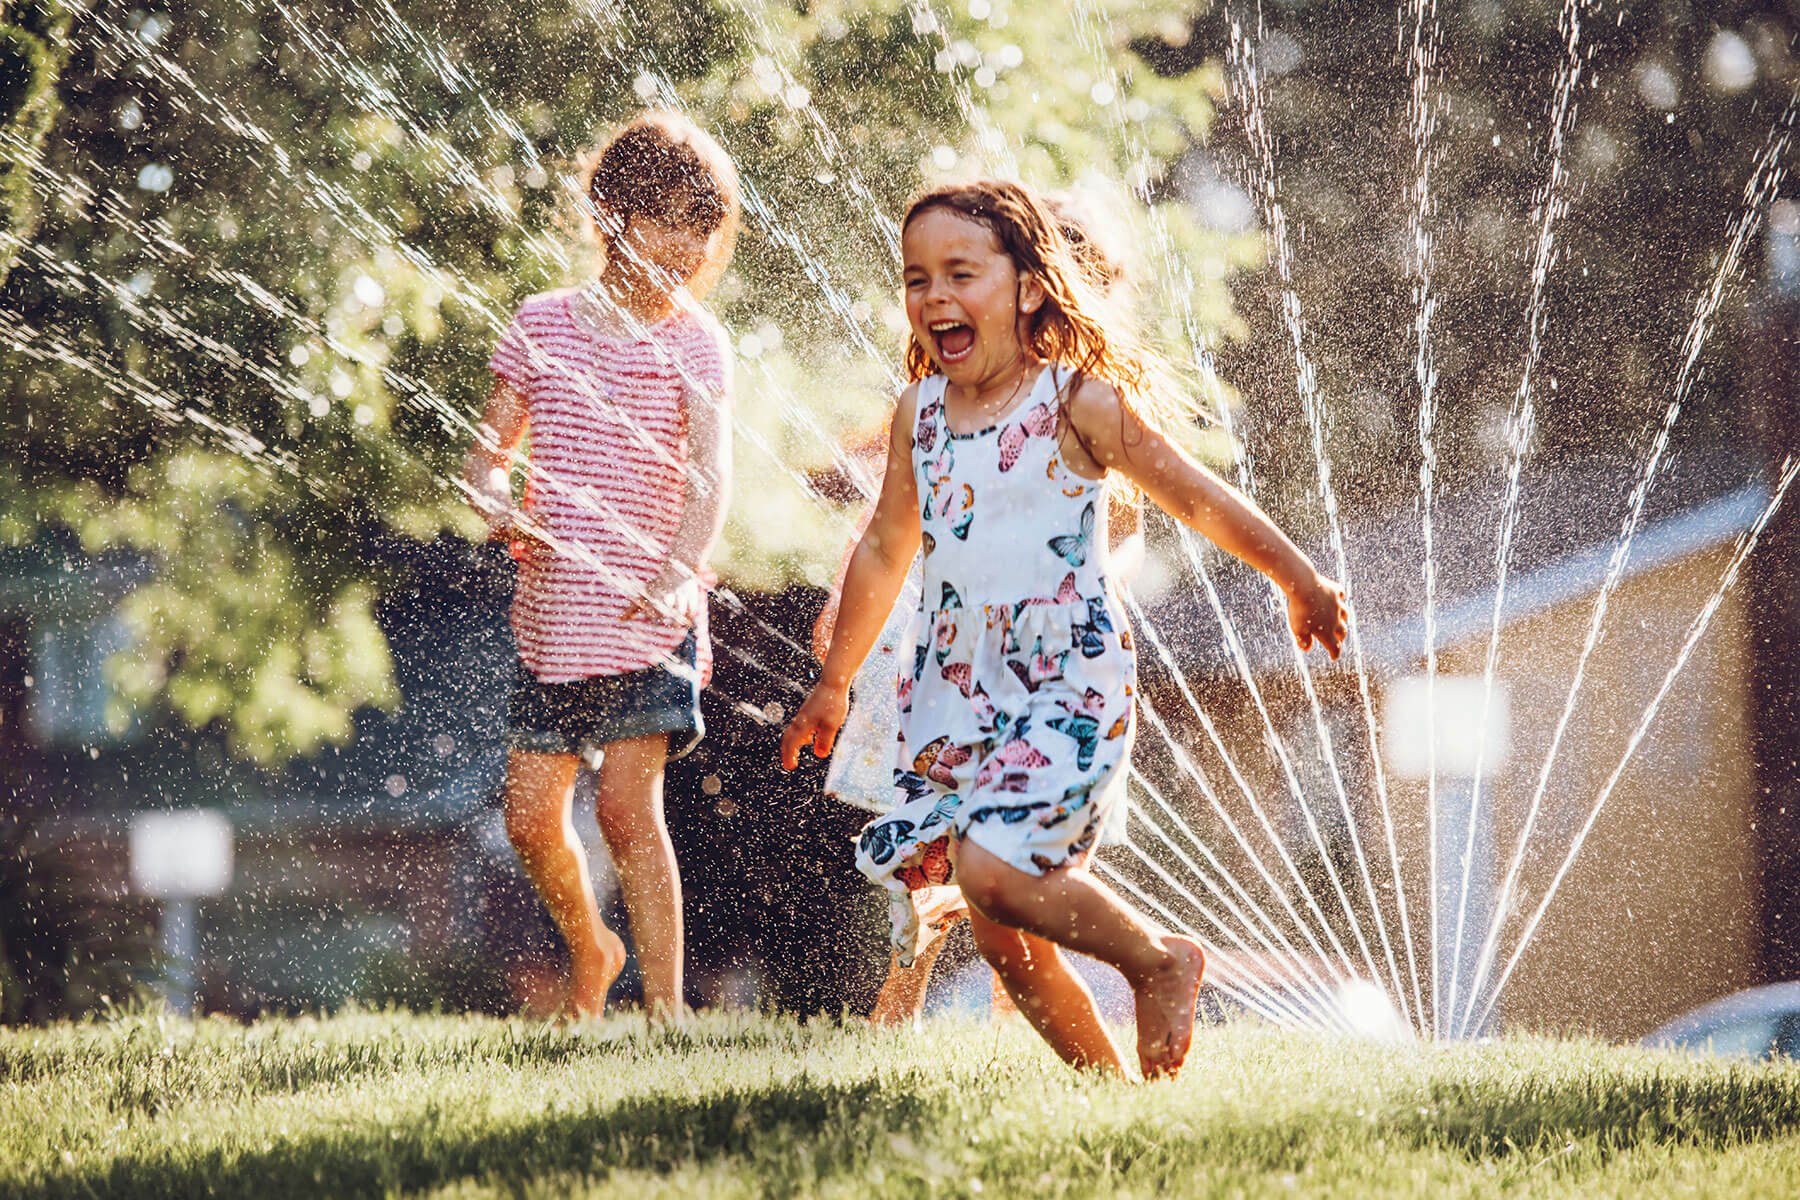
[[[918,387],[913,470],[923,594],[900,676],[895,806],[857,838],[911,961],[911,892],[949,883],[968,838],[1030,874],[1084,862],[1123,804],[1136,657],[1107,587],[1105,491],[1057,448],[1057,392],[952,434],[943,376]]]

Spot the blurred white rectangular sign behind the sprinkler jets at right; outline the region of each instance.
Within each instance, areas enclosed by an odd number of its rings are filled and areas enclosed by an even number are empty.
[[[1382,757],[1388,770],[1402,779],[1426,779],[1436,747],[1438,777],[1469,779],[1476,759],[1490,775],[1512,754],[1512,694],[1494,680],[1487,703],[1487,685],[1480,675],[1408,675],[1388,684],[1382,696]]]

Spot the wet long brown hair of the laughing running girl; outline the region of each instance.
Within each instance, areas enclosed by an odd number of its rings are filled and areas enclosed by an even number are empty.
[[[1174,371],[1166,360],[1109,302],[1109,284],[1102,279],[1112,277],[1114,264],[1098,254],[1091,239],[1085,246],[1091,261],[1084,264],[1082,250],[1071,245],[1048,201],[1010,180],[950,184],[914,198],[900,228],[932,209],[947,209],[985,227],[1012,259],[1013,270],[1039,281],[1044,302],[1037,311],[1019,315],[1019,338],[1037,358],[1073,367],[1071,387],[1084,376],[1102,380],[1132,412],[1168,432],[1206,417],[1184,389],[1172,385]],[[907,380],[918,381],[936,371],[931,353],[909,335]],[[1058,396],[1058,407],[1067,403],[1069,390]]]

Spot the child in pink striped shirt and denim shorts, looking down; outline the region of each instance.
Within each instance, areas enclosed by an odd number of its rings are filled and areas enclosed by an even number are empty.
[[[625,945],[599,918],[571,820],[583,757],[637,945],[644,1007],[682,1007],[680,874],[662,768],[704,732],[706,558],[725,516],[729,340],[697,302],[731,259],[738,176],[686,117],[646,113],[599,151],[583,288],[529,297],[495,349],[464,470],[518,560],[506,833],[569,943],[567,1011],[599,1015]],[[529,434],[522,506],[509,468]]]

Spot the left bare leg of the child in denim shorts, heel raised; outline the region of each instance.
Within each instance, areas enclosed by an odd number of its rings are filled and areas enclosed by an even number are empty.
[[[625,968],[625,943],[594,903],[587,855],[569,811],[574,770],[572,754],[513,750],[506,761],[506,837],[569,943],[569,1007],[578,1016],[599,1016],[607,990]]]

